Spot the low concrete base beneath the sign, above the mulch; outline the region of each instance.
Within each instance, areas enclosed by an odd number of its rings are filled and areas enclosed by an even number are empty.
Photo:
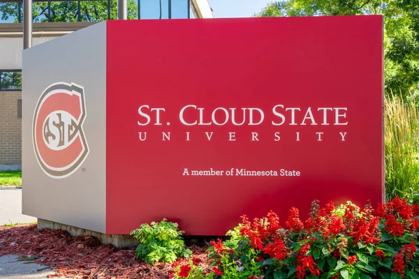
[[[138,246],[140,243],[133,236],[126,234],[103,234],[101,232],[94,232],[89,229],[82,229],[80,227],[73,227],[70,225],[64,225],[49,220],[38,218],[38,229],[62,229],[71,236],[94,236],[103,244],[110,244],[118,248],[132,248]]]

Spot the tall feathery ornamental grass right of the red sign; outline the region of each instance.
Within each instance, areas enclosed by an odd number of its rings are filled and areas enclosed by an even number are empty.
[[[398,96],[385,98],[385,195],[409,202],[418,199],[419,112],[416,103]]]

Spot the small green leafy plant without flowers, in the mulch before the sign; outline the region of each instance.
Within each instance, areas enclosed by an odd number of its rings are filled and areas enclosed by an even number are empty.
[[[159,223],[152,222],[151,226],[142,224],[140,229],[131,232],[140,241],[135,256],[149,264],[172,263],[177,257],[189,257],[192,252],[184,247],[183,233],[177,228],[177,223],[167,222],[166,218]]]

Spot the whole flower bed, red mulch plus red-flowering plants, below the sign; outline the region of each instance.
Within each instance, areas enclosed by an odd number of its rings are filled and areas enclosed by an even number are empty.
[[[228,240],[210,241],[207,252],[189,247],[192,257],[173,264],[146,264],[135,259],[135,248],[29,225],[0,229],[0,256],[35,257],[71,278],[419,279],[416,216],[419,205],[398,197],[376,210],[350,202],[321,208],[314,201],[304,222],[291,209],[286,227],[273,212],[242,216]]]

